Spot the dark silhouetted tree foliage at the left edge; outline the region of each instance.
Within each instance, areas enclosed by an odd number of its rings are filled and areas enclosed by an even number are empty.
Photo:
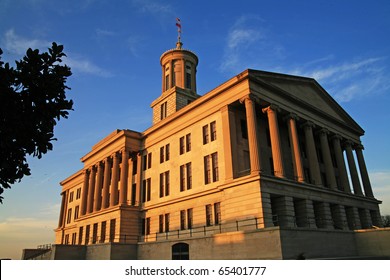
[[[4,189],[31,175],[27,155],[41,158],[53,149],[54,126],[68,118],[73,101],[67,100],[70,68],[61,65],[63,46],[48,52],[27,50],[16,67],[4,63],[0,49],[0,202]]]

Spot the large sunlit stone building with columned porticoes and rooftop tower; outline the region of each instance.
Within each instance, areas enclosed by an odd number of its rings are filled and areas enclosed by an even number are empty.
[[[61,182],[46,258],[375,255],[359,243],[382,234],[364,131],[321,85],[248,69],[200,96],[193,52],[178,41],[160,62],[153,125],[115,130]]]

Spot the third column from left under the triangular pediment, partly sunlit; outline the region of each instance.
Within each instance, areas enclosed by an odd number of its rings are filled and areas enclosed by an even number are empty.
[[[291,155],[293,160],[294,176],[298,182],[304,182],[304,170],[302,164],[301,150],[299,148],[299,139],[296,120],[297,115],[289,114],[287,116],[287,126],[290,137]]]

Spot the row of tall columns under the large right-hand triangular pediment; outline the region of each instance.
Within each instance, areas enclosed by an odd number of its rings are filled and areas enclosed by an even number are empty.
[[[248,95],[245,98],[241,99],[240,102],[245,105],[251,173],[256,174],[259,173],[259,171],[261,170],[258,146],[259,135],[256,118],[256,101],[251,95]],[[278,117],[280,117],[280,109],[278,106],[271,104],[268,107],[263,108],[262,113],[266,114],[268,118],[274,176],[279,178],[286,178],[286,167],[284,166],[286,161],[283,159],[284,155],[282,152],[278,122]],[[291,156],[295,179],[298,182],[306,182],[318,186],[324,185],[324,182],[322,182],[323,180],[321,177],[320,163],[317,157],[316,145],[318,145],[318,143],[316,143],[314,138],[314,135],[318,135],[321,156],[325,168],[327,187],[333,190],[342,189],[344,192],[351,193],[346,163],[344,161],[343,155],[344,148],[354,194],[363,195],[362,186],[360,183],[361,178],[361,181],[363,183],[364,195],[367,197],[373,197],[373,192],[362,152],[363,146],[360,144],[353,143],[349,139],[344,139],[338,134],[331,133],[326,128],[316,129],[316,126],[311,121],[300,120],[301,128],[304,132],[303,136],[305,140],[305,153],[307,155],[307,161],[309,166],[308,171],[310,177],[305,178],[305,172],[303,167],[304,159],[302,158],[302,153],[300,151],[299,146],[299,137],[301,135],[298,134],[298,120],[298,116],[294,113],[283,115],[283,121],[287,122],[289,132]],[[334,158],[338,168],[340,186],[338,186],[336,180],[335,169],[331,156],[331,147],[333,148]],[[360,178],[353,156],[353,151],[355,151],[356,158],[358,160]]]

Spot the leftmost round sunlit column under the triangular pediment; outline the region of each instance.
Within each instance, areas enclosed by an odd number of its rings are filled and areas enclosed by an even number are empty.
[[[257,119],[255,102],[251,96],[248,95],[240,100],[241,103],[245,103],[246,121],[248,127],[248,144],[249,144],[249,156],[251,163],[251,174],[259,174],[260,172],[260,154],[259,154],[259,142],[257,136]]]

